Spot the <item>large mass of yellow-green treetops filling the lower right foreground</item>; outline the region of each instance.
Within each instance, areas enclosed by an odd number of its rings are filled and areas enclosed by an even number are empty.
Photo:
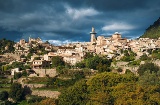
[[[160,74],[156,76],[159,78]],[[152,79],[151,76],[149,80]],[[67,88],[59,97],[59,105],[159,105],[160,85],[145,85],[132,73],[104,72]]]

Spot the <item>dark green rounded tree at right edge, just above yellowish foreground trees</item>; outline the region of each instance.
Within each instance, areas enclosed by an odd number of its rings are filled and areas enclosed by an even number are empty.
[[[143,75],[143,73],[148,70],[150,71],[150,73],[157,73],[159,71],[159,67],[154,63],[145,63],[139,66],[138,74]]]

